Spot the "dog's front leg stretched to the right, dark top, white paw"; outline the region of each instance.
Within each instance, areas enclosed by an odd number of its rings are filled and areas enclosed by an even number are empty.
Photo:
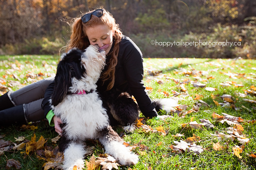
[[[124,141],[108,125],[99,131],[99,140],[104,145],[106,153],[117,159],[122,165],[135,165],[138,163],[138,155],[132,153],[129,148],[123,145]]]

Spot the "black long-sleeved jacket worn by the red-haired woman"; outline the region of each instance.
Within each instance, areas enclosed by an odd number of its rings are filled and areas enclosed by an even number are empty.
[[[114,40],[113,40],[114,41]],[[114,42],[110,52],[113,50]],[[108,54],[109,54],[108,53]],[[108,61],[111,55],[106,56],[106,66],[104,70],[108,69]],[[153,110],[156,103],[149,98],[146,88],[143,84],[143,55],[137,45],[127,36],[123,36],[119,43],[119,52],[117,57],[117,65],[115,71],[114,89],[121,92],[128,92],[136,99],[142,114],[145,117],[155,117],[157,113]],[[97,90],[99,93],[104,93],[107,89],[108,83],[103,84],[99,79],[97,82]],[[45,116],[51,110],[47,101],[50,99],[54,88],[54,82],[49,85],[45,91],[44,101],[42,107],[44,108]]]

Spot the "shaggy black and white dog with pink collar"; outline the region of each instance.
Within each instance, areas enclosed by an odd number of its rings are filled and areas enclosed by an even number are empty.
[[[99,139],[105,152],[122,165],[138,163],[138,155],[123,145],[123,140],[109,125],[107,110],[96,92],[96,82],[105,65],[105,51],[90,45],[85,51],[76,48],[61,56],[55,76],[54,92],[50,103],[54,114],[62,124],[62,139],[59,147],[64,153],[63,169],[84,167],[84,140]],[[115,94],[113,94],[115,96]],[[121,125],[133,123],[139,115],[138,106],[126,94],[118,94],[119,104],[107,103],[113,117]],[[121,101],[122,102],[122,101]],[[127,108],[127,112],[122,112]],[[122,117],[126,115],[125,117]]]

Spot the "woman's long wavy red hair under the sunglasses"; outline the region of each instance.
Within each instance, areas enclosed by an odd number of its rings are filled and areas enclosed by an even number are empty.
[[[90,13],[90,12],[87,12],[87,13]],[[121,41],[123,34],[119,28],[119,25],[116,24],[116,20],[108,11],[103,9],[103,16],[101,17],[96,17],[92,15],[91,19],[86,23],[83,23],[80,17],[74,18],[74,22],[71,26],[71,36],[70,36],[70,40],[68,41],[66,52],[68,52],[68,50],[74,47],[80,50],[84,50],[85,48],[87,48],[90,45],[90,42],[85,33],[85,30],[88,27],[93,27],[95,25],[102,25],[102,24],[109,26],[111,30],[114,29],[115,31],[113,36],[113,39],[115,40],[115,44],[114,44],[113,51],[110,54],[111,58],[107,63],[108,70],[103,72],[100,77],[103,83],[106,82],[107,80],[110,80],[110,83],[107,86],[107,90],[110,90],[115,83],[115,70],[116,70],[116,64],[117,64],[117,56],[119,52],[119,42]]]

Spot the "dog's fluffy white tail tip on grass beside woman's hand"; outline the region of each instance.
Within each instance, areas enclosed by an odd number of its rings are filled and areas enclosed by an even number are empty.
[[[156,111],[164,110],[166,113],[175,112],[174,107],[178,106],[178,100],[171,98],[155,99]]]

